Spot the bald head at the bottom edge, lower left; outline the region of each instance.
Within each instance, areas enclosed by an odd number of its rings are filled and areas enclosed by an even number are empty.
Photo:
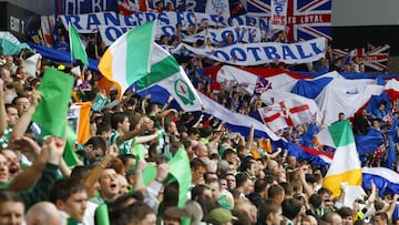
[[[61,225],[61,214],[50,202],[34,204],[25,214],[27,225]]]

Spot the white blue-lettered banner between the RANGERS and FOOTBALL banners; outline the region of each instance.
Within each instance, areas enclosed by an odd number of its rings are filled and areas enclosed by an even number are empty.
[[[114,27],[114,25],[99,25],[101,39],[105,42],[105,45],[111,45],[119,37],[125,33],[127,27]],[[156,25],[156,39],[161,35],[172,37],[176,31],[174,25]],[[206,42],[207,39],[213,44],[221,44],[226,41],[227,35],[233,37],[233,42],[236,43],[258,43],[260,42],[260,30],[258,28],[249,25],[228,27],[223,29],[208,29],[194,35],[183,35],[183,41],[187,43],[194,43],[197,40]]]

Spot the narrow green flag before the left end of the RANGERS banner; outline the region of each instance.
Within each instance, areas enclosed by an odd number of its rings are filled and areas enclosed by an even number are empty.
[[[84,50],[82,40],[79,37],[76,28],[70,22],[69,25],[69,34],[70,34],[70,49],[71,49],[71,58],[75,60],[82,61],[83,64],[89,65],[88,54]]]

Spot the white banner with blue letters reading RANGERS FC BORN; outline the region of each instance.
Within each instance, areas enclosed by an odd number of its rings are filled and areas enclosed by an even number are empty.
[[[69,22],[78,29],[79,33],[96,32],[99,25],[113,25],[122,28],[131,28],[144,24],[157,19],[158,25],[172,25],[177,23],[186,29],[190,24],[197,22],[207,23],[208,25],[218,27],[236,27],[250,25],[260,29],[262,32],[268,30],[268,20],[262,18],[249,18],[245,16],[224,18],[217,14],[207,14],[198,12],[136,12],[129,17],[123,17],[115,12],[96,12],[88,14],[61,16],[62,22],[68,27]]]

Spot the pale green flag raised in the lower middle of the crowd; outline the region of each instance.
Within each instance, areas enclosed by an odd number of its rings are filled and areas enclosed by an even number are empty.
[[[186,151],[180,149],[167,164],[170,166],[170,174],[172,174],[178,183],[177,206],[183,208],[187,200],[187,192],[192,180],[190,160]]]

